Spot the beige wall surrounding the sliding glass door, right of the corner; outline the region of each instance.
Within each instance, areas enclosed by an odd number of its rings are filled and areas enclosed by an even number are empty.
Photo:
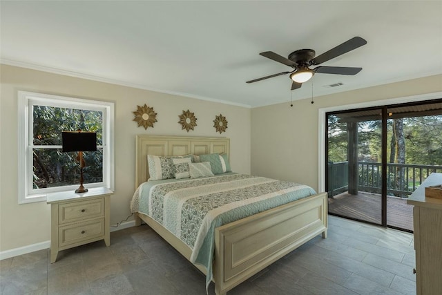
[[[333,106],[438,93],[442,75],[385,84],[314,99],[253,108],[251,173],[309,184],[318,190],[318,110]],[[397,98],[397,99],[396,99]]]

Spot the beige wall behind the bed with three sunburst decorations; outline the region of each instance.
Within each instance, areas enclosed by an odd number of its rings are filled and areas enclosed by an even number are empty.
[[[50,239],[50,207],[46,202],[18,204],[17,197],[17,91],[32,91],[115,102],[115,194],[111,197],[111,225],[130,214],[134,192],[135,135],[229,137],[233,171],[250,173],[251,110],[188,97],[155,93],[86,79],[44,73],[14,66],[0,66],[0,251],[26,247]],[[153,129],[133,122],[137,105],[157,112]],[[195,113],[195,131],[178,124],[182,111]],[[215,133],[215,115],[227,117],[226,133]]]

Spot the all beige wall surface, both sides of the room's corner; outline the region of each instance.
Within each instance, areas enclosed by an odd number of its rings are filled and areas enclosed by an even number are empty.
[[[93,82],[14,66],[0,65],[0,251],[50,239],[46,202],[18,204],[17,91],[32,91],[115,102],[115,194],[111,224],[124,220],[133,194],[135,135],[191,135],[231,138],[233,171],[294,180],[318,189],[318,109],[442,91],[442,75],[386,84],[294,102],[242,108],[188,97]],[[401,102],[398,99],[397,102]],[[133,122],[137,105],[157,112],[155,128],[145,131]],[[198,126],[186,133],[177,124],[182,110],[195,113]],[[213,119],[222,113],[226,133],[215,133]]]

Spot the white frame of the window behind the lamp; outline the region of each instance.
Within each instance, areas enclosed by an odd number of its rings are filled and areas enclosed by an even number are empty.
[[[73,191],[78,185],[64,187],[48,187],[44,189],[33,189],[33,160],[32,149],[32,106],[54,106],[59,108],[76,108],[90,111],[103,112],[103,181],[93,184],[85,184],[85,187],[106,187],[115,190],[115,156],[114,156],[114,108],[113,102],[102,102],[90,99],[75,97],[64,97],[59,95],[48,95],[44,93],[32,93],[27,91],[18,92],[18,118],[19,118],[19,142],[18,142],[18,185],[19,204],[30,202],[46,202],[46,195],[59,191]],[[60,146],[48,146],[59,148]]]

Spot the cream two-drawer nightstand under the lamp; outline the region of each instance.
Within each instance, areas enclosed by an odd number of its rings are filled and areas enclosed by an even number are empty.
[[[61,250],[104,240],[111,245],[109,227],[111,194],[106,188],[89,189],[86,193],[65,191],[48,193],[50,204],[50,263],[55,263]]]

